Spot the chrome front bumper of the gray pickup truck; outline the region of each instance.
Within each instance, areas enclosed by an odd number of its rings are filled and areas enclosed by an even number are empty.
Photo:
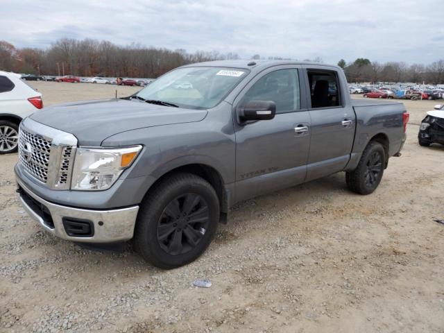
[[[112,243],[116,241],[127,241],[133,238],[134,227],[137,218],[139,206],[121,208],[119,210],[85,210],[82,208],[67,207],[50,203],[40,196],[33,194],[31,190],[24,185],[22,180],[16,178],[22,191],[44,205],[51,213],[53,228],[46,225],[44,219],[26,203],[23,194],[19,194],[20,203],[24,210],[35,219],[44,230],[50,232],[56,237],[67,239],[69,241],[78,241],[85,243]],[[72,237],[69,236],[63,225],[63,218],[89,220],[94,225],[94,234],[92,237]]]

